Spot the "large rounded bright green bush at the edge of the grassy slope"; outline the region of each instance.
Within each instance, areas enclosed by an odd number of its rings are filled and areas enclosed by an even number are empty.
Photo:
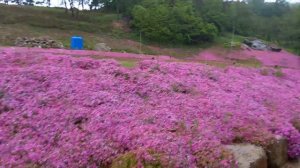
[[[164,1],[152,4],[144,1],[133,8],[132,16],[132,26],[153,41],[187,44],[208,42],[214,39],[218,31],[213,24],[198,17],[192,5],[186,2],[170,6]]]

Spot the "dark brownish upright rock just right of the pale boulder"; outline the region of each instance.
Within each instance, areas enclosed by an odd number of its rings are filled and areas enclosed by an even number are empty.
[[[280,168],[288,160],[288,144],[286,139],[281,136],[275,137],[275,140],[267,147],[268,167]]]

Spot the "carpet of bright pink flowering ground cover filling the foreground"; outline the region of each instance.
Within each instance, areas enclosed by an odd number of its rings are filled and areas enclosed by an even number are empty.
[[[297,158],[299,114],[299,69],[0,50],[0,167],[233,167],[276,135]]]

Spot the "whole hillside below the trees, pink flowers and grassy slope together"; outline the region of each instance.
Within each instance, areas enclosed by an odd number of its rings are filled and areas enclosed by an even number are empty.
[[[230,31],[141,44],[111,12],[0,5],[0,18],[0,167],[299,168],[299,56]],[[85,50],[69,49],[74,35]],[[18,37],[65,48],[16,47]]]

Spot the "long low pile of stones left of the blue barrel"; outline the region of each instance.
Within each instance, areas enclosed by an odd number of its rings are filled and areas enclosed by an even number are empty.
[[[52,40],[47,37],[27,38],[18,37],[15,41],[18,47],[38,47],[38,48],[64,48],[61,42]]]

